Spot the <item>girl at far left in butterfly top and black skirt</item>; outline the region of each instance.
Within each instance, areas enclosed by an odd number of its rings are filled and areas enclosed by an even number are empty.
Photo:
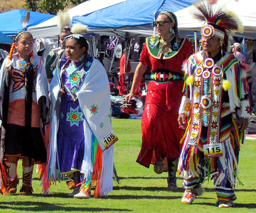
[[[0,98],[0,191],[16,193],[17,163],[22,159],[20,194],[31,195],[34,164],[46,163],[42,131],[48,112],[48,85],[42,57],[33,55],[33,37],[28,31],[17,34],[1,67]]]

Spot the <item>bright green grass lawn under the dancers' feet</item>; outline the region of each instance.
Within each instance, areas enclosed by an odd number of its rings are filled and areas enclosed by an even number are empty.
[[[216,194],[211,181],[204,183],[205,192],[193,205],[185,205],[180,202],[184,191],[180,178],[177,181],[179,191],[170,192],[166,190],[167,173],[157,175],[153,167],[147,169],[135,163],[141,145],[141,121],[113,119],[112,123],[119,137],[115,145],[115,165],[121,184],[114,182],[114,190],[108,197],[68,198],[66,194],[70,191],[65,182],[52,186],[49,195],[42,195],[38,175],[34,174],[33,196],[0,195],[0,212],[256,212],[256,141],[246,141],[245,146],[241,146],[239,179],[244,186],[236,187],[236,208],[214,206]],[[20,164],[18,175],[22,177]]]

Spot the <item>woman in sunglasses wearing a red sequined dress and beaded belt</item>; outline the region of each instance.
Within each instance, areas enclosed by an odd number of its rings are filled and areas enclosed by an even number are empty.
[[[177,190],[175,174],[184,133],[176,120],[182,97],[181,66],[192,54],[192,46],[187,39],[179,38],[177,18],[172,12],[161,12],[153,24],[158,35],[146,39],[126,101],[131,101],[143,73],[150,67],[151,80],[142,116],[142,145],[137,162],[147,168],[154,164],[154,171],[161,174],[167,170],[167,159],[168,189]]]

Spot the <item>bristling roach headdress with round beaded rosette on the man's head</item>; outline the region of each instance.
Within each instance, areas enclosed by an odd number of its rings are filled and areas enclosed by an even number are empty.
[[[243,25],[238,16],[226,9],[223,4],[209,4],[208,2],[197,2],[190,13],[194,19],[205,22],[207,25],[201,30],[205,38],[216,36],[224,51],[227,51],[231,33],[243,33]]]

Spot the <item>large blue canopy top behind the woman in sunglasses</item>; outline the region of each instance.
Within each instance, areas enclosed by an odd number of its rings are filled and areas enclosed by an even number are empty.
[[[194,1],[127,0],[85,16],[74,16],[72,23],[81,22],[91,30],[152,30],[152,22],[161,11],[175,12]]]

